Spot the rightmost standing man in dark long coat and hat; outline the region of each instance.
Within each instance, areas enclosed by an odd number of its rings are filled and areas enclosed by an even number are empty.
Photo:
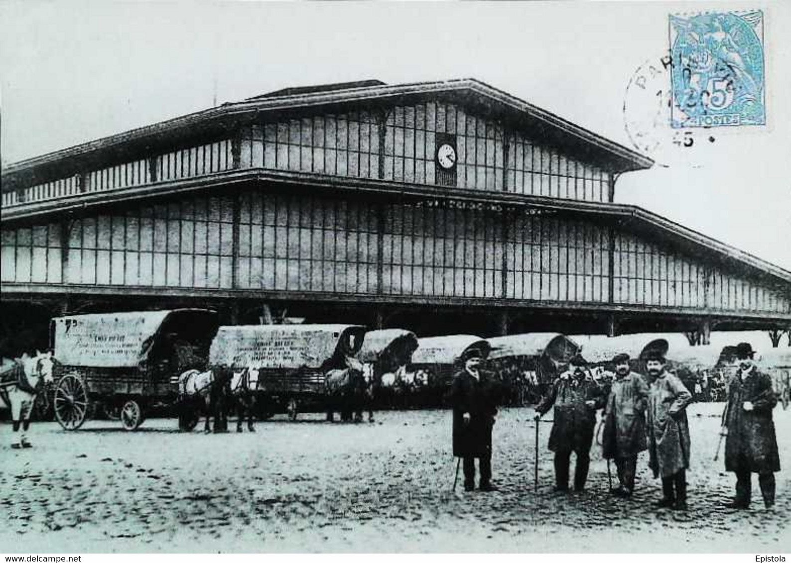
[[[774,434],[772,409],[778,399],[772,381],[753,363],[749,343],[736,347],[739,370],[728,386],[728,404],[722,417],[725,438],[725,471],[736,473],[736,498],[730,508],[750,506],[751,475],[758,474],[763,503],[774,505],[774,471],[780,471],[778,441]]]

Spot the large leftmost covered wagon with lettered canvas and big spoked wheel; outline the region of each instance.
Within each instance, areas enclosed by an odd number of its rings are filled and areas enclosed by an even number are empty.
[[[205,370],[219,325],[209,310],[57,317],[51,323],[55,418],[77,430],[97,409],[135,430],[180,399],[178,377]]]

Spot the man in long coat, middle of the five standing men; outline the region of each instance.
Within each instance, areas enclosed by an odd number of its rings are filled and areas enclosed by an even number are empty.
[[[645,409],[649,388],[639,373],[631,371],[629,355],[612,358],[615,381],[612,382],[607,406],[604,407],[602,456],[615,460],[619,487],[613,494],[629,497],[634,490],[638,453],[648,448],[645,440]]]

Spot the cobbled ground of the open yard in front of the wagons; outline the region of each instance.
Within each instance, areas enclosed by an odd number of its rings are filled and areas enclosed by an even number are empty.
[[[255,434],[181,434],[169,419],[134,433],[118,422],[73,433],[42,423],[26,450],[10,449],[3,423],[0,551],[787,551],[791,410],[774,411],[784,468],[776,507],[763,508],[755,482],[758,501],[736,512],[722,507],[735,479],[712,461],[721,408],[689,407],[687,513],[653,509],[660,482],[645,453],[634,497],[611,497],[596,445],[588,490],[553,495],[548,423],[540,424],[534,491],[529,408],[498,415],[498,493],[465,493],[461,484],[452,492],[449,411],[382,412],[359,425],[277,417]]]

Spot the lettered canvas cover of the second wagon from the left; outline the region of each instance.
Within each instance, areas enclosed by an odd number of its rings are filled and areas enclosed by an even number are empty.
[[[364,332],[365,327],[359,325],[223,326],[211,343],[209,363],[237,368],[319,369],[339,346],[344,354],[354,355]]]

